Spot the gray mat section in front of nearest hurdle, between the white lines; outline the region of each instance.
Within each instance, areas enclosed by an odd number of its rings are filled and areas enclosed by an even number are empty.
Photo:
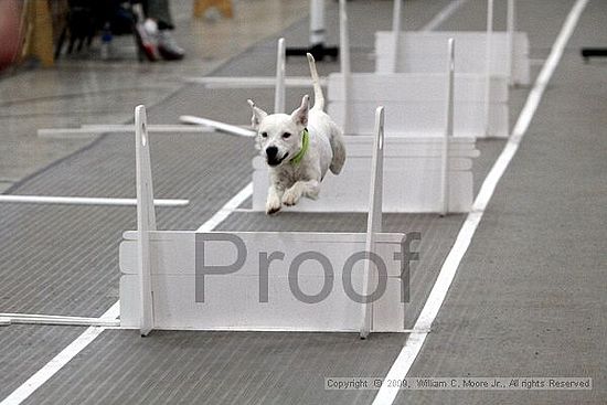
[[[354,404],[324,377],[381,376],[403,334],[106,331],[28,404]]]

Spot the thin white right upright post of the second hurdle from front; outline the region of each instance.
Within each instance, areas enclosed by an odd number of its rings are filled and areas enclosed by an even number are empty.
[[[455,40],[449,39],[447,66],[447,130],[443,137],[443,162],[440,167],[440,216],[449,212],[449,140],[454,136],[455,102]]]

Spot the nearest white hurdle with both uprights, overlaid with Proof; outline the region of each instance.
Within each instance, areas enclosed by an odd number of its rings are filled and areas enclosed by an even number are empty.
[[[157,231],[145,108],[136,114],[139,231],[125,233],[120,244],[121,327],[143,335],[152,329],[405,331],[395,259],[404,235],[381,233],[383,109],[366,234]],[[351,299],[384,288],[373,302]]]

